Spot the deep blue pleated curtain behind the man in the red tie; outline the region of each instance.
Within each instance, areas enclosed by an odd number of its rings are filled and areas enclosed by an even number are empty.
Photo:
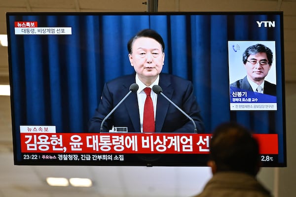
[[[134,72],[127,41],[150,28],[163,36],[166,45],[163,72],[193,82],[206,132],[230,120],[257,133],[281,132],[281,110],[229,111],[228,40],[277,40],[277,91],[282,91],[280,27],[253,31],[259,19],[281,23],[279,16],[243,14],[11,16],[15,130],[19,125],[55,125],[58,132],[87,131],[104,83]],[[72,27],[72,35],[15,35],[14,21]],[[281,107],[280,94],[277,100]]]

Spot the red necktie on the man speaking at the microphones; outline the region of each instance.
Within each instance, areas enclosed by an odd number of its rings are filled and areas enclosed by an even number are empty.
[[[150,97],[151,88],[145,88],[147,97],[144,104],[143,132],[155,132],[153,102]]]

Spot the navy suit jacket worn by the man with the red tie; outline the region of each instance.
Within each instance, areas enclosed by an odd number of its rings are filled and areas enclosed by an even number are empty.
[[[102,99],[89,121],[90,132],[100,132],[102,120],[114,106],[129,92],[129,87],[135,83],[135,74],[116,78],[105,84]],[[193,85],[190,81],[170,74],[161,73],[159,86],[163,94],[176,103],[194,121],[197,131],[203,131],[204,126],[200,109],[193,95]],[[131,93],[104,123],[104,132],[114,127],[128,127],[128,132],[141,132],[139,106],[136,93]],[[193,123],[162,95],[157,97],[156,132],[193,132]]]

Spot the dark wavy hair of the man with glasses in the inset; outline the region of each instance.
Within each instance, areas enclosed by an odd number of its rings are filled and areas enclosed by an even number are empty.
[[[273,61],[272,51],[270,50],[270,48],[268,48],[263,44],[255,44],[255,45],[249,46],[243,54],[243,63],[246,64],[248,57],[250,55],[256,55],[257,53],[266,53],[268,64],[271,66]]]

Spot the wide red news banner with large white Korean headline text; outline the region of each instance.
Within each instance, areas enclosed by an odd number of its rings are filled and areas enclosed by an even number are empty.
[[[22,153],[208,154],[211,134],[20,133]],[[262,155],[278,154],[277,134],[254,134]]]

